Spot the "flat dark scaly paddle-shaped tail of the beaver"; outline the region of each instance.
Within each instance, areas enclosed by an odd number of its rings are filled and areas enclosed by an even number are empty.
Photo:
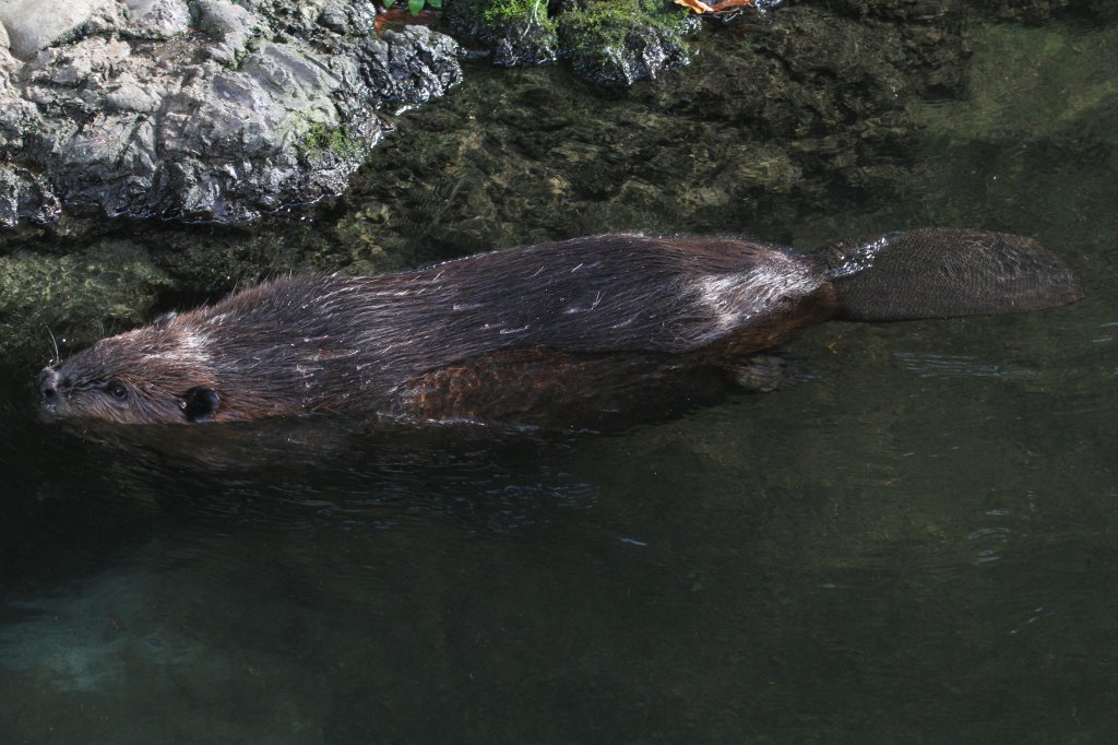
[[[1061,258],[1005,233],[921,228],[844,242],[816,256],[837,294],[835,317],[846,320],[1016,313],[1083,296]]]

